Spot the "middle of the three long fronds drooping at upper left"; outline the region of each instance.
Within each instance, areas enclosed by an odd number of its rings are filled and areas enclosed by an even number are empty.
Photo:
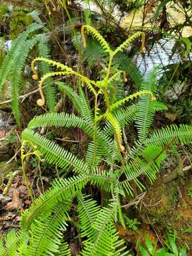
[[[14,117],[18,126],[21,124],[20,110],[19,110],[19,91],[21,89],[21,78],[23,75],[23,68],[26,64],[26,58],[29,51],[38,43],[38,38],[33,37],[21,43],[22,50],[16,56],[16,61],[13,63],[10,72],[11,80],[11,107],[14,112]]]

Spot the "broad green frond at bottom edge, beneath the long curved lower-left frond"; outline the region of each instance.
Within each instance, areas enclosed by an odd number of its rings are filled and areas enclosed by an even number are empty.
[[[58,203],[52,209],[52,214],[48,217],[39,218],[31,225],[28,256],[53,255],[59,251],[63,231],[66,230],[66,221],[70,219],[68,211],[70,203]]]

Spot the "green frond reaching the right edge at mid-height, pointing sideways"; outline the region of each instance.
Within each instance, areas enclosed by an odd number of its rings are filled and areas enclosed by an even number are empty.
[[[192,143],[192,125],[172,124],[169,127],[158,129],[149,139],[146,139],[146,145],[162,146],[172,144],[191,144]]]

